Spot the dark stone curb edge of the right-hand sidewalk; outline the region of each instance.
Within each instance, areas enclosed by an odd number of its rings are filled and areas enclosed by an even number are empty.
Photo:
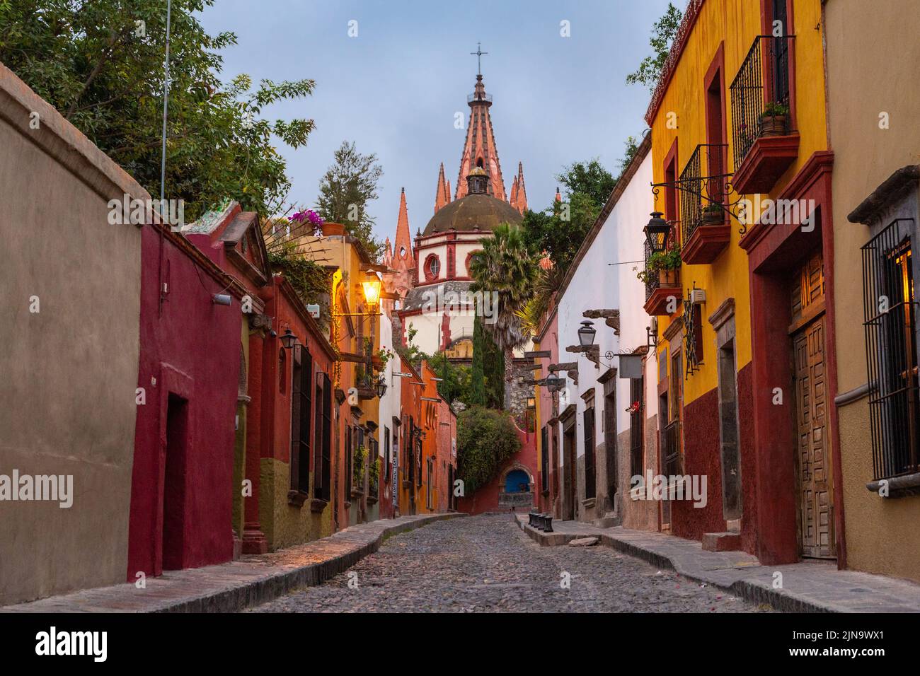
[[[514,518],[524,533],[527,533],[532,540],[535,540],[541,546],[559,546],[568,544],[571,540],[585,537],[584,533],[542,533],[535,528],[527,525],[523,521]],[[737,596],[744,601],[752,603],[768,603],[776,610],[784,613],[840,613],[842,609],[832,604],[825,604],[811,600],[802,599],[792,595],[788,590],[775,590],[770,586],[765,586],[758,582],[748,579],[741,579],[726,585],[716,579],[700,575],[696,571],[690,571],[684,568],[680,562],[674,561],[670,556],[664,556],[658,552],[653,552],[645,547],[639,547],[632,543],[624,542],[606,533],[598,533],[595,537],[601,539],[600,544],[605,547],[615,549],[617,552],[642,559],[654,567],[673,570],[678,575],[686,579],[692,579],[695,582],[705,582],[710,587],[728,591],[730,594]]]

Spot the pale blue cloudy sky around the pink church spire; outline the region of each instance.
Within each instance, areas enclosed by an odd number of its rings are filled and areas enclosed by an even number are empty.
[[[311,97],[264,109],[309,118],[296,150],[279,143],[292,201],[312,206],[342,141],[383,167],[368,205],[374,233],[395,239],[400,189],[412,235],[434,212],[438,169],[456,187],[481,42],[483,82],[505,189],[523,162],[528,206],[543,209],[563,166],[598,157],[619,170],[628,136],[646,129],[650,92],[626,76],[650,55],[652,23],[668,0],[216,0],[201,14],[210,33],[231,30],[221,78],[309,78]],[[563,37],[562,22],[569,37]],[[356,23],[351,23],[356,22]],[[351,27],[351,29],[350,29]],[[351,37],[357,31],[357,35]]]

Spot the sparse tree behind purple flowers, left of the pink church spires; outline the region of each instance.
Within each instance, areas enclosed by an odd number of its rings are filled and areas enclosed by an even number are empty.
[[[362,155],[354,142],[343,141],[333,158],[334,164],[319,181],[316,211],[327,221],[344,224],[371,258],[379,259],[384,246],[374,238],[374,218],[367,212],[367,203],[377,199],[377,182],[384,170],[377,164],[377,155]]]

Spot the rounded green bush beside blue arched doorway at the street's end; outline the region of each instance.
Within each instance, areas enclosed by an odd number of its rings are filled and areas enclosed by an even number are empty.
[[[467,495],[494,479],[521,450],[521,440],[507,414],[470,407],[457,417],[457,477]]]

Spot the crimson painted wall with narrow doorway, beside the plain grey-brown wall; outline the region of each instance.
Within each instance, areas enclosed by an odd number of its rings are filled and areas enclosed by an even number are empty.
[[[139,571],[163,571],[165,521],[167,533],[176,533],[169,538],[176,543],[176,554],[167,551],[167,567],[206,566],[233,556],[239,299],[230,306],[213,304],[213,294],[224,285],[199,269],[170,237],[162,244],[168,293],[161,313],[161,237],[153,226],[144,225],[138,386],[146,390],[146,404],[137,407],[135,428],[127,570],[131,581]],[[187,401],[187,419],[184,464],[168,473],[178,480],[167,482],[170,393]],[[164,499],[176,506],[175,520],[165,517]]]

